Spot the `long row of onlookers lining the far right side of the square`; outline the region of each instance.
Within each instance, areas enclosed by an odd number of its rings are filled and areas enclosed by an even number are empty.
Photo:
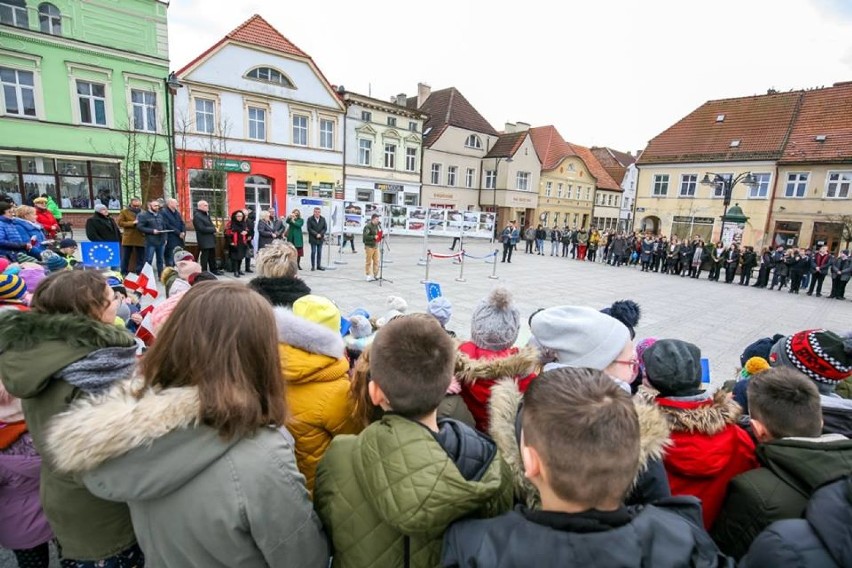
[[[513,222],[501,233],[504,261],[507,249],[521,239]],[[640,267],[642,272],[657,272],[681,278],[700,278],[726,284],[738,283],[769,290],[787,289],[790,294],[804,290],[808,296],[823,296],[823,285],[829,282],[828,297],[846,299],[846,286],[852,277],[852,256],[845,249],[835,254],[824,245],[804,247],[754,247],[722,242],[708,243],[700,237],[671,239],[664,235],[599,232],[597,229],[570,229],[542,225],[529,226],[523,232],[527,254],[557,256],[610,266]],[[547,244],[549,243],[549,248]],[[549,251],[549,253],[548,253]],[[511,262],[511,252],[509,251]],[[752,284],[752,278],[754,283]],[[722,280],[720,280],[722,279]]]

